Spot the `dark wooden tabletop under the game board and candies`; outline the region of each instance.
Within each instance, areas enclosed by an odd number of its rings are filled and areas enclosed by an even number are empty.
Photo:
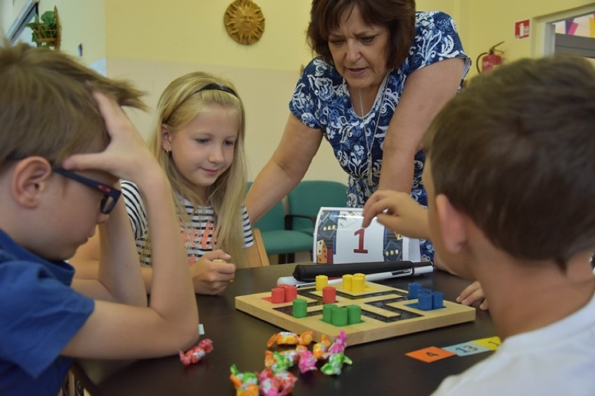
[[[196,365],[186,367],[177,356],[137,361],[78,360],[73,370],[91,395],[235,395],[229,380],[230,365],[240,371],[260,371],[269,337],[281,329],[237,311],[236,295],[262,293],[277,278],[291,275],[294,265],[238,270],[235,281],[223,295],[199,295],[200,323],[212,339],[214,351]],[[469,281],[437,271],[415,278],[423,287],[443,291],[455,300]],[[407,288],[411,278],[382,282]],[[455,356],[433,363],[409,358],[407,352],[428,346],[450,346],[496,335],[490,315],[478,310],[475,322],[427,330],[368,344],[348,346],[346,355],[353,365],[344,366],[339,376],[321,372],[299,374],[292,395],[429,395],[448,375],[458,374],[490,353]],[[348,341],[348,340],[347,340]]]

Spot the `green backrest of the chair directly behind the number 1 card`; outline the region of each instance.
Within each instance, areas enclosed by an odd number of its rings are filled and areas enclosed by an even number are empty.
[[[287,195],[289,214],[316,218],[321,207],[345,207],[347,186],[328,180],[303,180]],[[293,218],[293,230],[314,230],[308,219]]]

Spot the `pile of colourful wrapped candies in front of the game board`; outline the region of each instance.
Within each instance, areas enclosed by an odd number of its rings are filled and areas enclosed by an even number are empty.
[[[237,396],[283,396],[291,393],[295,381],[298,379],[289,372],[296,364],[300,373],[304,374],[316,370],[319,361],[325,361],[321,372],[327,375],[341,374],[344,364],[351,365],[351,359],[344,351],[347,346],[345,332],[341,330],[335,342],[323,335],[321,342],[317,342],[310,351],[312,332],[297,335],[293,332],[279,332],[270,337],[267,346],[273,344],[288,346],[295,345],[295,349],[284,351],[265,351],[265,369],[262,372],[240,372],[235,365],[230,367],[230,380]]]

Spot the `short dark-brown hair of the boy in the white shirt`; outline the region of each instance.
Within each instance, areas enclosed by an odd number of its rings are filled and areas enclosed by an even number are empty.
[[[436,194],[495,247],[561,266],[595,247],[595,69],[522,59],[480,75],[425,136]]]

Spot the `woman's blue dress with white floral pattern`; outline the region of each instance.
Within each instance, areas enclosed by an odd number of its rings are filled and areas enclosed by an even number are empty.
[[[378,188],[386,130],[407,77],[424,66],[454,57],[465,59],[464,74],[467,73],[471,62],[463,52],[452,18],[440,11],[416,13],[416,36],[409,57],[401,67],[388,73],[376,94],[372,110],[365,117],[358,116],[353,110],[346,82],[334,67],[316,58],[304,68],[289,109],[304,125],[321,129],[330,142],[341,167],[349,175],[348,207],[362,207]],[[368,169],[368,147],[372,152],[372,170]],[[421,179],[425,161],[422,150],[417,152],[414,161],[411,196],[426,206],[427,197]],[[368,184],[369,171],[372,171],[372,186]],[[434,248],[430,242],[422,241],[421,254],[423,260],[432,260]]]

